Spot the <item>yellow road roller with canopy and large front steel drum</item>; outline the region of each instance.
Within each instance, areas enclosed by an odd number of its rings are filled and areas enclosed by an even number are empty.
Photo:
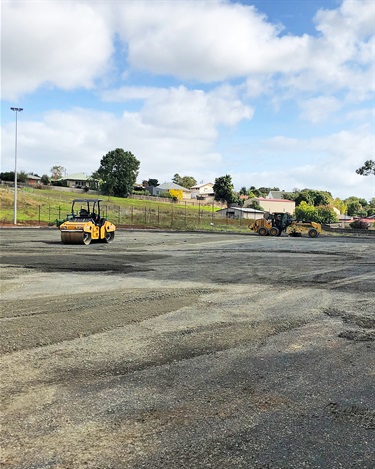
[[[101,199],[74,199],[71,213],[60,224],[64,244],[90,244],[91,241],[110,243],[115,238],[116,226],[102,216]]]

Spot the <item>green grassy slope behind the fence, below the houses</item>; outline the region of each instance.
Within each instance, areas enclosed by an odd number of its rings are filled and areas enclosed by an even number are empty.
[[[215,216],[218,207],[188,205],[60,191],[50,188],[20,188],[17,191],[17,224],[48,225],[62,220],[71,210],[74,198],[101,198],[105,216],[118,226],[189,229],[210,231],[248,231],[249,220],[228,220]],[[12,224],[14,190],[0,186],[0,224]]]

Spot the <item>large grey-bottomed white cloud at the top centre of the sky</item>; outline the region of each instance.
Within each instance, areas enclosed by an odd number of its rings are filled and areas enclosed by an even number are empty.
[[[254,7],[223,1],[122,4],[117,28],[132,67],[201,81],[293,70],[309,42],[278,37]]]

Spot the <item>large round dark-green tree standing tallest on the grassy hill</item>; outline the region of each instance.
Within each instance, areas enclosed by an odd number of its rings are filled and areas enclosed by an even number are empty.
[[[127,197],[133,191],[137,180],[140,162],[130,152],[116,148],[108,152],[100,160],[100,167],[96,172],[102,180],[101,190],[106,195]]]

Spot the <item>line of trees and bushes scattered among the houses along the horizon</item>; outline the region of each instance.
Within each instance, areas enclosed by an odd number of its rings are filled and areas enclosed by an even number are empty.
[[[137,177],[139,174],[140,161],[130,151],[124,151],[122,148],[116,148],[108,152],[100,160],[100,166],[88,180],[92,189],[99,188],[103,194],[114,197],[128,197],[134,192]],[[42,184],[58,184],[62,178],[65,168],[55,165],[51,168],[51,179],[47,175],[41,177]],[[356,170],[357,174],[368,176],[375,175],[375,162],[372,160],[365,161],[363,166]],[[4,181],[14,181],[14,172],[0,173],[0,179]],[[36,175],[37,176],[37,175]],[[39,177],[39,176],[38,176]],[[20,172],[17,174],[19,182],[26,182],[27,174]],[[192,176],[180,176],[175,174],[172,182],[179,186],[190,189],[197,184]],[[157,179],[148,179],[142,181],[142,187],[158,186]],[[215,179],[213,186],[215,200],[226,203],[227,206],[242,206],[244,199],[256,199],[266,197],[270,191],[280,191],[279,187],[258,187],[250,186],[242,187],[238,192],[234,190],[232,178],[230,175],[221,176]],[[178,199],[179,194],[175,194],[174,198]],[[181,194],[182,197],[182,194]],[[367,202],[363,198],[355,196],[341,200],[333,198],[328,191],[320,191],[316,189],[294,189],[292,192],[282,191],[282,197],[293,200],[296,204],[295,216],[298,219],[308,221],[317,221],[321,223],[333,223],[337,221],[334,208],[338,209],[341,214],[354,217],[366,217],[375,214],[375,198]],[[254,200],[251,205],[255,209],[262,209],[261,204]]]

